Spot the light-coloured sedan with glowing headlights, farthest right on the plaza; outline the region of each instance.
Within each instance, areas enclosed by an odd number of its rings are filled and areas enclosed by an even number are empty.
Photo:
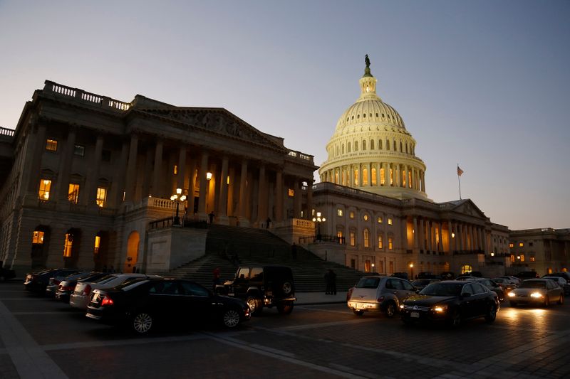
[[[549,279],[523,280],[519,287],[509,292],[511,306],[518,304],[549,306],[554,301],[564,304],[564,290]]]

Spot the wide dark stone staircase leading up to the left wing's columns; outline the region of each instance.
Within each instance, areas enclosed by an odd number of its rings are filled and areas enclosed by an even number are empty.
[[[291,245],[269,230],[208,225],[206,254],[173,269],[168,276],[192,279],[210,288],[212,272],[216,268],[219,268],[224,282],[233,279],[239,265],[284,265],[293,270],[298,292],[324,292],[323,276],[327,269],[336,273],[337,291],[346,291],[365,275],[356,269],[326,262],[301,246],[297,246],[296,250],[294,258]]]

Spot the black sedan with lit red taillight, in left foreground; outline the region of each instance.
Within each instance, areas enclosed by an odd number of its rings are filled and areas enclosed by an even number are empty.
[[[219,296],[182,279],[146,279],[112,289],[95,289],[87,307],[91,319],[128,324],[139,334],[155,325],[218,321],[234,328],[251,317],[245,301]]]

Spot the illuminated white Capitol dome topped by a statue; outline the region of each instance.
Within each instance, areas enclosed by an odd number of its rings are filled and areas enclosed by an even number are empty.
[[[338,119],[326,145],[321,181],[393,198],[427,199],[425,164],[415,156],[415,139],[400,114],[376,94],[368,55],[359,82],[361,96]]]

